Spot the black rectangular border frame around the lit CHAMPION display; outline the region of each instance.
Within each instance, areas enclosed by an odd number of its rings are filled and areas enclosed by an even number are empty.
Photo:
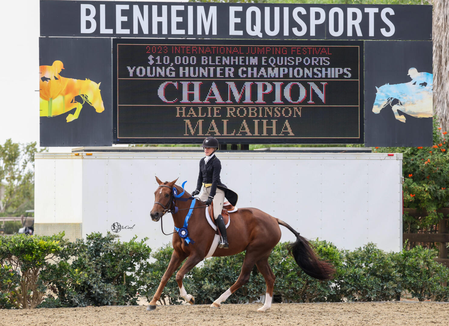
[[[359,74],[359,87],[358,87],[358,135],[357,137],[328,137],[328,138],[321,138],[321,137],[290,137],[290,138],[269,138],[269,137],[260,137],[260,138],[245,138],[245,137],[239,137],[239,138],[231,138],[231,137],[225,137],[224,135],[214,135],[217,138],[220,139],[223,143],[240,143],[240,144],[250,144],[250,143],[322,143],[322,144],[329,144],[329,143],[336,143],[336,144],[343,144],[343,143],[363,143],[364,142],[364,98],[363,98],[363,90],[364,90],[364,46],[362,41],[330,41],[330,40],[322,40],[322,41],[242,41],[242,40],[235,40],[235,39],[229,39],[229,40],[180,40],[180,39],[113,39],[113,143],[119,144],[119,143],[201,143],[202,140],[207,137],[207,135],[198,135],[197,137],[154,137],[154,138],[143,138],[143,137],[126,137],[119,135],[119,76],[118,76],[118,44],[179,44],[179,45],[223,45],[223,44],[230,44],[230,45],[245,45],[248,43],[251,43],[251,46],[293,46],[293,45],[308,45],[310,47],[313,46],[357,46],[359,49],[358,53],[358,59],[359,59],[359,66],[358,66],[358,74]],[[344,106],[344,105],[341,105]],[[131,120],[132,121],[132,120]],[[169,128],[167,124],[164,124],[163,121],[159,122],[160,128]],[[187,127],[186,127],[187,128]],[[176,132],[172,130],[172,134],[176,135]]]

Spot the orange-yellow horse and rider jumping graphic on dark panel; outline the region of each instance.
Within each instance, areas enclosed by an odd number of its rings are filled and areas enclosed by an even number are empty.
[[[39,66],[39,88],[40,88],[40,116],[54,117],[69,113],[67,122],[79,117],[84,103],[88,103],[101,113],[105,110],[100,94],[100,84],[86,78],[85,80],[65,78],[59,73],[64,69],[62,61],[54,61],[53,65]],[[76,96],[83,99],[83,103],[75,100]]]

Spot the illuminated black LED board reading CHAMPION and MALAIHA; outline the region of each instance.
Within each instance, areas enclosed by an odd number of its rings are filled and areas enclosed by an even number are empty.
[[[363,143],[362,41],[114,39],[114,143]]]

